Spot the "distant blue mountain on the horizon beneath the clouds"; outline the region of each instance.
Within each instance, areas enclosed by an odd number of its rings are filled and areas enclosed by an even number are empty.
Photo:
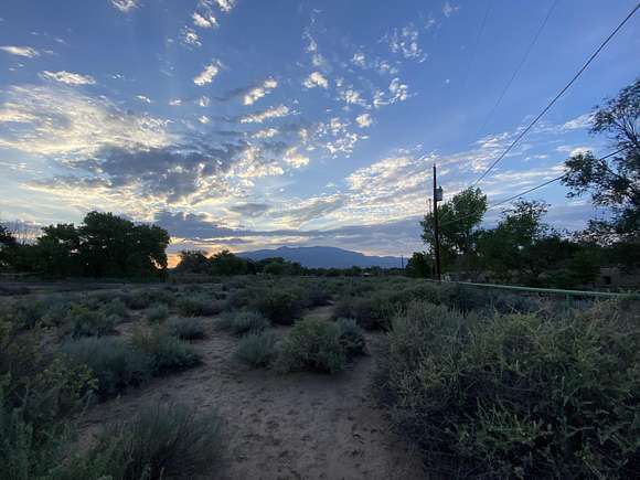
[[[399,257],[377,257],[335,247],[279,247],[254,252],[241,252],[241,257],[262,260],[269,257],[282,257],[289,262],[298,262],[309,268],[349,268],[349,267],[382,267],[399,268]]]

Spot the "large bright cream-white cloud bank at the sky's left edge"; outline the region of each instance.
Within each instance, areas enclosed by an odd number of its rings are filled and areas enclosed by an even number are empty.
[[[3,148],[66,157],[90,156],[106,146],[161,147],[172,141],[164,120],[125,111],[66,86],[13,86],[1,98],[0,125],[9,122],[0,137]]]

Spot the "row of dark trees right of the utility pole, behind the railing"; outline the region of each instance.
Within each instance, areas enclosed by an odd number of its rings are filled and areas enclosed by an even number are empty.
[[[607,207],[607,218],[590,220],[580,232],[552,228],[544,217],[548,204],[518,200],[502,211],[494,228],[481,228],[487,195],[478,188],[456,194],[438,207],[442,271],[466,278],[490,276],[498,281],[575,287],[594,281],[599,267],[640,266],[640,79],[594,109],[591,135],[606,135],[616,152],[597,158],[591,151],[565,161],[561,179],[569,198],[590,195]],[[433,252],[434,214],[420,222],[422,238]],[[407,265],[414,276],[433,271],[433,256],[415,253]]]

